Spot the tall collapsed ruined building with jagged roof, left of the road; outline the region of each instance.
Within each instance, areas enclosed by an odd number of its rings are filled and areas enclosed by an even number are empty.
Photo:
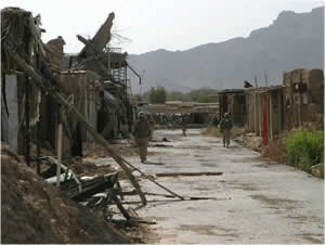
[[[77,36],[84,48],[76,55],[64,53],[62,37],[43,43],[40,16],[18,8],[1,10],[2,141],[21,154],[30,143],[57,147],[57,124],[63,125],[63,157],[82,155],[82,143],[93,139],[80,122],[41,92],[8,50],[24,57],[39,75],[50,80],[65,99],[106,140],[128,137],[131,129],[130,81],[127,53],[109,47],[115,14],[110,13],[95,36]],[[28,103],[27,103],[28,102]],[[65,113],[58,113],[64,111]]]

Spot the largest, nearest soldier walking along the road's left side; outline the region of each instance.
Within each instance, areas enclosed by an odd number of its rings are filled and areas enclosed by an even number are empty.
[[[141,163],[144,163],[146,162],[147,143],[151,136],[151,130],[143,112],[139,113],[139,120],[134,125],[133,136],[139,146]]]

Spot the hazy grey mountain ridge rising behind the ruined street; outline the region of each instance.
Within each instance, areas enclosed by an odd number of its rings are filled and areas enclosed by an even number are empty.
[[[144,90],[158,85],[179,91],[243,88],[244,80],[255,83],[255,75],[264,86],[265,74],[269,85],[278,85],[285,70],[324,67],[324,8],[283,11],[272,25],[251,31],[248,38],[185,51],[160,49],[129,55],[128,61],[136,70],[145,70]]]

